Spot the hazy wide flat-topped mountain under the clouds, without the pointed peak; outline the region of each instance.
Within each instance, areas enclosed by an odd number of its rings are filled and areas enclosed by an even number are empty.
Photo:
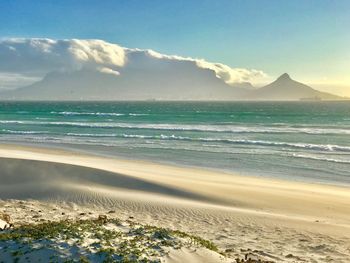
[[[147,69],[146,69],[147,70]],[[115,77],[92,70],[52,72],[30,86],[0,93],[14,100],[237,100],[244,87],[232,87],[210,70],[194,66],[173,71],[128,69]],[[154,73],[150,73],[154,71]],[[175,72],[175,73],[174,73]]]

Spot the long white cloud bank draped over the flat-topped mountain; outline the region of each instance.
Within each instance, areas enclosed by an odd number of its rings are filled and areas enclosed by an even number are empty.
[[[138,56],[140,54],[142,56]],[[266,77],[260,70],[231,68],[204,59],[164,55],[153,50],[129,49],[102,40],[12,38],[0,40],[0,88],[23,86],[55,71],[87,69],[120,77],[126,67],[146,69],[157,64],[156,61],[190,63],[198,70],[212,71],[228,85],[254,83]]]

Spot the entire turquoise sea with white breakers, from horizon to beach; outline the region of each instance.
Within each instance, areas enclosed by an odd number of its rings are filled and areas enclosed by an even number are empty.
[[[350,184],[349,102],[0,102],[0,140]]]

